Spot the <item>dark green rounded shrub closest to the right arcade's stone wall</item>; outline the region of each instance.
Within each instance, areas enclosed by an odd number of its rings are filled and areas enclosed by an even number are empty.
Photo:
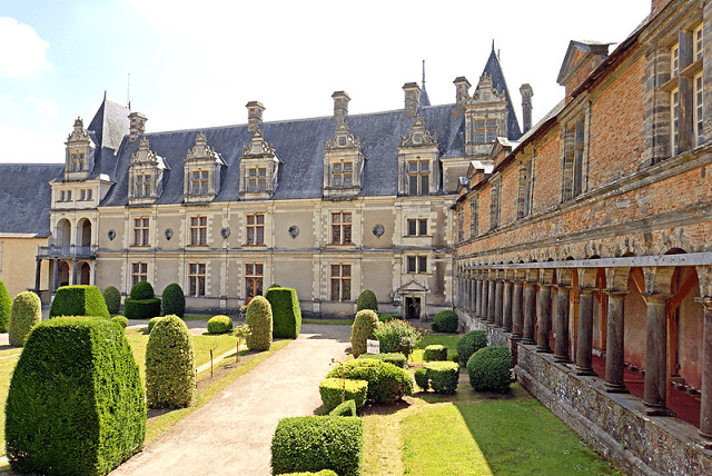
[[[475,391],[508,391],[511,369],[512,354],[506,346],[482,348],[467,360],[469,385]]]

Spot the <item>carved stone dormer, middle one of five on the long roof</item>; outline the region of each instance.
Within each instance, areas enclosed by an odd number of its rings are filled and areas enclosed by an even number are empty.
[[[265,135],[256,127],[250,142],[240,157],[240,197],[267,199],[277,190],[279,158],[275,149],[265,140]]]

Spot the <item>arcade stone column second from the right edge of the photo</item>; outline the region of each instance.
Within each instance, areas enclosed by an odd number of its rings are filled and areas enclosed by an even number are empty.
[[[643,404],[654,410],[665,408],[668,396],[668,294],[647,295],[647,325],[645,326],[645,388]]]

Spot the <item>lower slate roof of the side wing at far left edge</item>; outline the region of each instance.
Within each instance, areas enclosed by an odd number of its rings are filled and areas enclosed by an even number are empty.
[[[49,182],[63,170],[63,163],[0,163],[0,234],[49,236]]]

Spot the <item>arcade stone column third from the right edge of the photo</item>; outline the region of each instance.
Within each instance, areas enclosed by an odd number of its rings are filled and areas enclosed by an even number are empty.
[[[605,341],[605,390],[627,393],[623,384],[623,318],[626,291],[606,290],[609,295],[609,321]]]

